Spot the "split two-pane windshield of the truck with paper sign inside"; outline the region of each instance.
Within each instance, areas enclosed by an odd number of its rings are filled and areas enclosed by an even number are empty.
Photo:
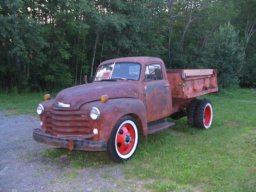
[[[140,65],[138,63],[111,63],[100,66],[94,81],[105,79],[139,80]]]

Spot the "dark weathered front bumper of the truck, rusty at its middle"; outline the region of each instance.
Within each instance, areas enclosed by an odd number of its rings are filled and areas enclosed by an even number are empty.
[[[46,134],[41,129],[35,129],[33,131],[33,139],[35,141],[45,143],[48,145],[54,145],[61,148],[68,148],[70,151],[81,150],[98,152],[106,150],[105,140],[93,141],[89,139],[79,139],[74,137],[57,137]]]

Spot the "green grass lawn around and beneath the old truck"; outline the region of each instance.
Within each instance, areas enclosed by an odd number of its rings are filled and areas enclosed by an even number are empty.
[[[0,110],[35,113],[42,96],[0,94]],[[136,155],[123,163],[125,177],[144,180],[143,187],[153,191],[256,191],[256,91],[206,97],[214,107],[210,130],[188,127],[186,117],[170,119],[172,129],[140,137]],[[45,152],[50,158],[65,154],[75,169],[114,164],[103,152]]]

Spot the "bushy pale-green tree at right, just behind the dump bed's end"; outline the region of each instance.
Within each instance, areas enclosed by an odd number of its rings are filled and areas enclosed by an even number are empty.
[[[213,34],[206,44],[201,63],[203,67],[218,70],[218,81],[223,88],[238,86],[244,64],[244,48],[230,23],[220,26]]]

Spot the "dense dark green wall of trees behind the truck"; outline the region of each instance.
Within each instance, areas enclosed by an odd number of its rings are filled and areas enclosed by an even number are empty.
[[[223,87],[253,86],[255,10],[256,0],[3,0],[0,89],[81,84],[101,61],[125,56],[214,67]]]

